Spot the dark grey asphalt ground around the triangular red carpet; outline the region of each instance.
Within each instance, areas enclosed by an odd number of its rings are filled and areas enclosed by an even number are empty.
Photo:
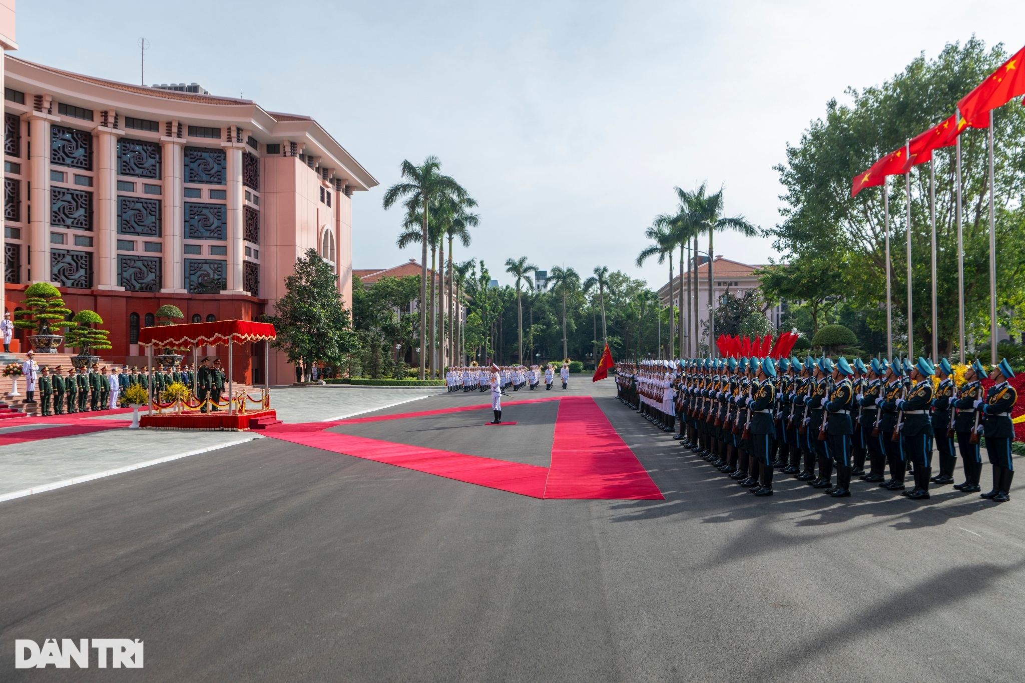
[[[781,477],[754,499],[613,391],[567,393],[592,392],[664,501],[538,500],[263,438],[0,503],[0,680],[1025,677],[1021,482],[1003,505]],[[550,407],[489,417],[336,429],[543,464]],[[14,669],[15,638],[105,637],[144,640],[145,668]]]

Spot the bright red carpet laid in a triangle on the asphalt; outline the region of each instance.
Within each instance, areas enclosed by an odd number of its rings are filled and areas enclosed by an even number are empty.
[[[324,431],[339,424],[483,411],[489,410],[490,403],[339,422],[283,424],[269,429],[266,435],[532,498],[662,500],[658,486],[589,396],[552,396],[504,405],[542,400],[562,401],[547,468]]]

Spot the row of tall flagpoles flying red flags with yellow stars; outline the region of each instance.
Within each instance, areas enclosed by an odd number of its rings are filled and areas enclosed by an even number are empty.
[[[857,175],[851,186],[851,197],[865,187],[883,185],[883,210],[886,216],[887,260],[887,355],[893,357],[893,312],[891,309],[890,267],[890,199],[887,194],[887,177],[904,175],[907,202],[907,347],[908,355],[914,354],[913,316],[911,311],[911,168],[929,162],[929,220],[932,227],[933,259],[933,357],[939,356],[937,308],[936,308],[936,172],[933,166],[933,151],[954,147],[956,173],[956,195],[954,220],[957,226],[957,313],[958,350],[960,361],[965,362],[965,241],[961,230],[961,168],[960,134],[968,128],[989,129],[989,326],[991,362],[996,362],[996,237],[993,214],[993,110],[1010,102],[1014,97],[1025,94],[1025,47],[1004,61],[982,83],[965,95],[954,114],[919,135],[910,138],[904,146],[891,152],[878,160],[867,171]],[[1023,100],[1025,104],[1025,100]]]

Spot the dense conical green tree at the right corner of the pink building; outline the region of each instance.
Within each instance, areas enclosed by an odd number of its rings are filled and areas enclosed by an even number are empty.
[[[285,296],[275,310],[276,314],[264,316],[278,332],[271,345],[284,349],[289,362],[301,360],[305,368],[314,360],[340,365],[356,348],[337,275],[316,249],[308,249],[295,260],[295,272],[285,278]]]

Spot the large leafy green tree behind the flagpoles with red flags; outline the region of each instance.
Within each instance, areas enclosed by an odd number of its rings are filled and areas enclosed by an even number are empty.
[[[851,197],[852,178],[884,155],[953,114],[957,100],[1007,58],[1000,45],[986,49],[978,39],[946,45],[935,59],[924,55],[881,85],[848,89],[850,103],[826,102],[825,115],[813,121],[797,144],[786,150],[777,167],[785,187],[782,222],[765,230],[793,265],[828,254],[842,272],[837,287],[864,323],[886,331],[886,221],[881,187]],[[1025,291],[1025,108],[994,112],[995,206],[998,316],[1015,326],[1015,297]],[[961,134],[963,179],[965,310],[969,335],[988,337],[989,258],[986,131]],[[930,173],[922,164],[911,171],[912,308],[914,338],[921,347],[937,336],[940,354],[953,351],[957,339],[957,230],[954,148],[933,153],[936,184],[938,329],[931,315]],[[908,224],[905,179],[889,185],[895,331],[906,330]],[[900,337],[895,332],[895,337]],[[905,342],[906,347],[906,342]],[[927,354],[929,351],[926,352]]]

